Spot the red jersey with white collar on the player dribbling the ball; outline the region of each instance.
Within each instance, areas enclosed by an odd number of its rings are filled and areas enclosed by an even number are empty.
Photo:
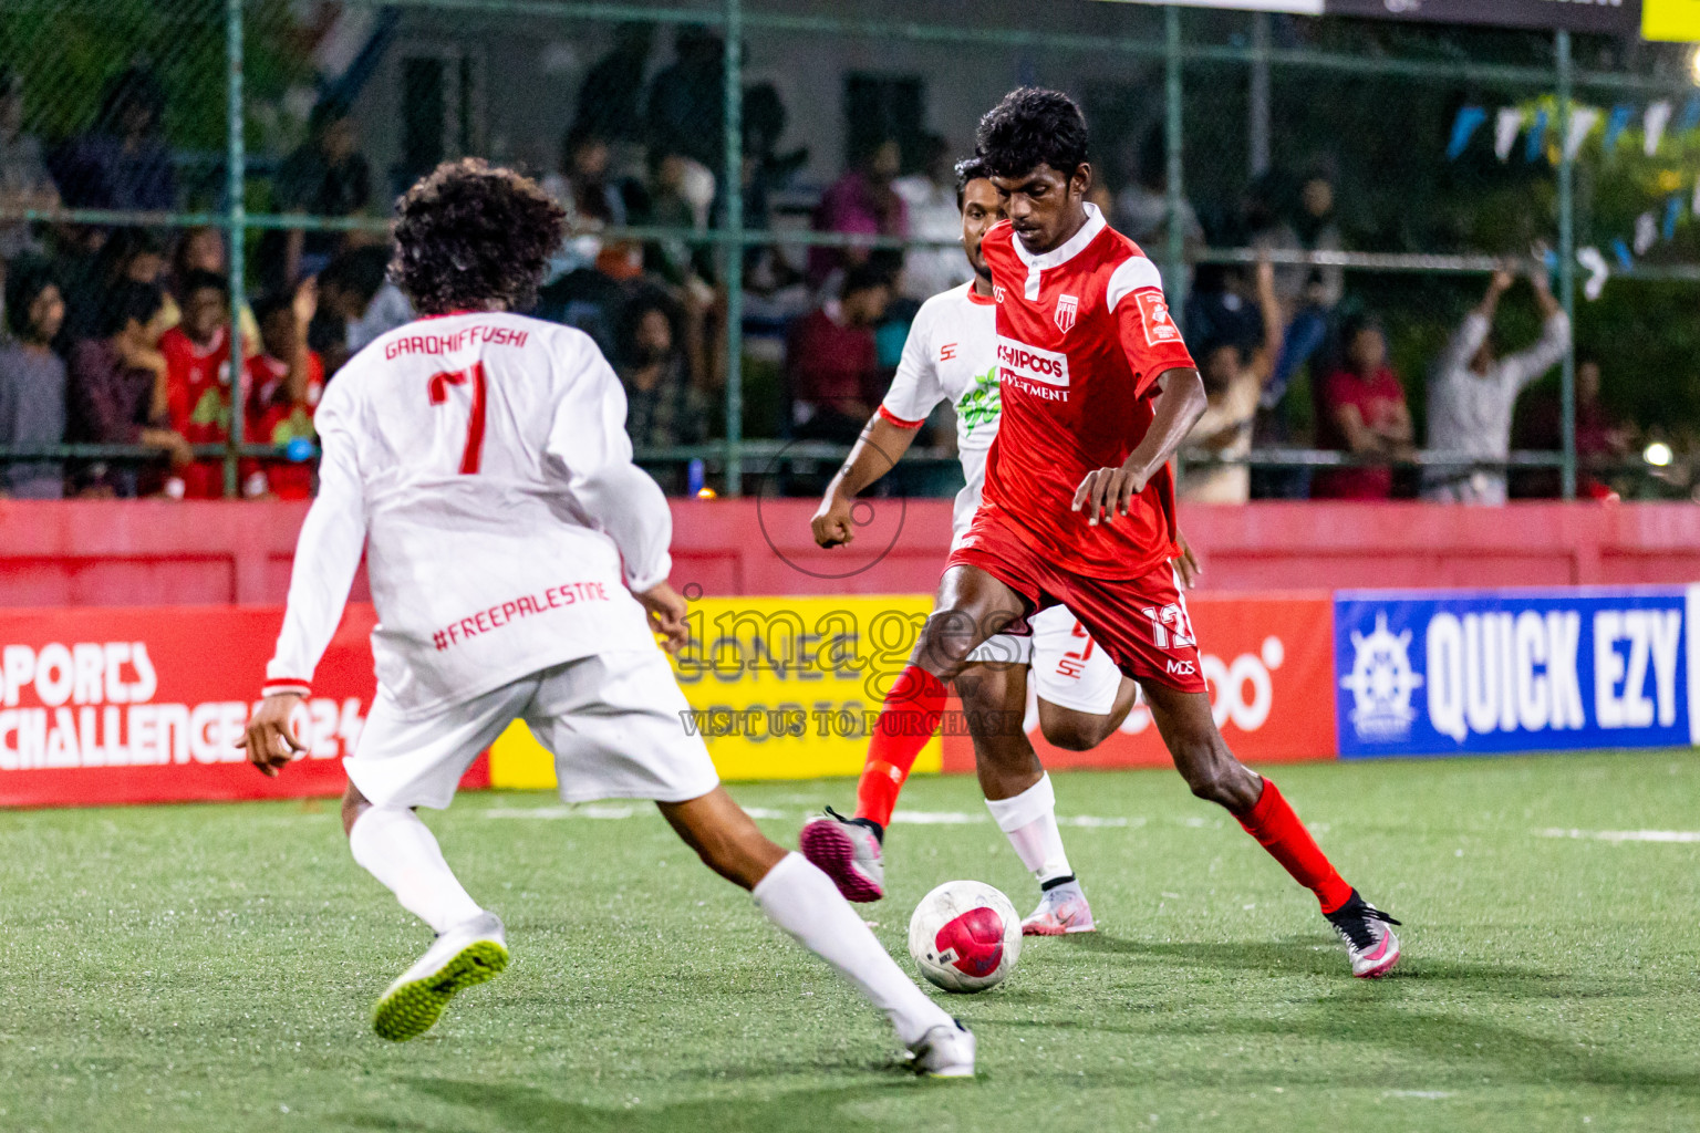
[[[1170,467],[1125,516],[1090,527],[1069,508],[1086,472],[1122,464],[1144,438],[1156,379],[1193,367],[1163,280],[1090,204],[1085,228],[1052,251],[1027,251],[1008,221],[981,248],[998,299],[1003,391],[983,506],[1068,571],[1139,578],[1175,554]]]

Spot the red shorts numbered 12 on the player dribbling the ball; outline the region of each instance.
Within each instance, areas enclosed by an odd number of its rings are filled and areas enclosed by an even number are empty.
[[[1182,693],[1207,691],[1198,639],[1168,562],[1139,578],[1088,578],[1046,561],[1003,523],[981,511],[949,566],[979,567],[1022,595],[1028,613],[1068,606],[1115,666],[1136,681]]]

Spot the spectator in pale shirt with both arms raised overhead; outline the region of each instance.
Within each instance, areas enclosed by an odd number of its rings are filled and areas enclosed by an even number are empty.
[[[1493,318],[1511,287],[1511,272],[1494,272],[1481,306],[1464,318],[1428,380],[1428,448],[1476,460],[1503,460],[1511,450],[1511,409],[1516,396],[1550,370],[1571,347],[1571,321],[1552,297],[1547,270],[1535,265],[1528,282],[1540,307],[1540,340],[1528,350],[1494,357]],[[1431,467],[1423,474],[1423,499],[1433,503],[1499,504],[1506,499],[1504,469]]]

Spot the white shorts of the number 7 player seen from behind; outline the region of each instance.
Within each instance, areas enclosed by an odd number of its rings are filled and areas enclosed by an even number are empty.
[[[444,809],[461,776],[513,720],[554,754],[564,802],[685,802],[721,778],[660,649],[607,652],[551,666],[434,715],[405,720],[379,691],[348,781],[379,807]]]

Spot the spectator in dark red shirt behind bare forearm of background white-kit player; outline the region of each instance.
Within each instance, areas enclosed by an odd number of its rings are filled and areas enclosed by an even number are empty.
[[[845,272],[840,297],[797,319],[785,343],[794,435],[853,443],[879,401],[874,328],[891,302],[891,277],[874,265]]]

